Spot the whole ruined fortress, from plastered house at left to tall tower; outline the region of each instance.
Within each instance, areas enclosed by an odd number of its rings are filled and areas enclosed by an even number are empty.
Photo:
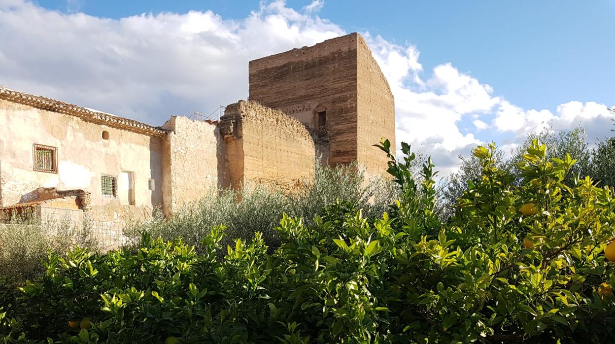
[[[212,188],[292,190],[316,157],[386,170],[372,145],[395,138],[391,89],[363,38],[347,34],[249,63],[249,100],[220,121],[160,127],[0,87],[0,219],[171,215]]]

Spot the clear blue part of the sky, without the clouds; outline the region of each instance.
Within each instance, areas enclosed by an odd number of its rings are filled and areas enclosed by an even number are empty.
[[[300,9],[311,1],[287,1]],[[38,1],[66,11],[66,1]],[[82,1],[83,12],[121,18],[213,10],[240,19],[260,1]],[[615,1],[327,1],[320,17],[421,51],[425,70],[452,62],[524,108],[570,99],[615,104]]]

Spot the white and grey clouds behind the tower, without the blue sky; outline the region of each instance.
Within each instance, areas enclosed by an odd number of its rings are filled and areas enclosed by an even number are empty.
[[[212,11],[101,18],[73,13],[80,2],[67,2],[62,13],[0,0],[2,86],[160,125],[171,114],[246,98],[249,60],[346,33],[319,17],[322,0],[300,10],[280,0],[261,2],[240,19]],[[582,124],[589,137],[608,135],[612,127],[613,113],[603,104],[523,109],[451,62],[425,71],[413,44],[362,34],[395,95],[397,142],[432,155],[443,174],[458,166],[459,154],[500,135],[502,145],[514,148],[549,125]]]

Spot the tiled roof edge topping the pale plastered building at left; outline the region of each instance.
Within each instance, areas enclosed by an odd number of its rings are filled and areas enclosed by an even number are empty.
[[[0,86],[0,99],[32,106],[41,110],[68,114],[69,116],[79,117],[84,121],[105,124],[105,126],[130,130],[139,134],[164,137],[167,133],[167,130],[149,126],[148,124],[138,121],[133,121],[132,119],[113,116],[111,114],[90,110],[71,103],[62,102],[61,100],[41,97],[40,95],[31,95],[12,89],[7,89],[2,86]]]

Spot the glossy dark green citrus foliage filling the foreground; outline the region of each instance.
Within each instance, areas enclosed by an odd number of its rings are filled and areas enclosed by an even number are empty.
[[[547,158],[534,140],[515,182],[494,146],[474,156],[448,222],[436,214],[433,165],[389,143],[399,200],[379,217],[337,202],[309,226],[284,216],[279,247],[261,233],[198,252],[143,234],[140,247],[50,254],[41,278],[3,298],[4,342],[107,343],[561,343],[608,342],[615,329],[615,200],[590,178],[565,180],[569,156]],[[523,215],[523,204],[535,214]],[[533,241],[524,248],[523,240]],[[224,254],[220,254],[224,252]],[[1,297],[1,295],[0,295]],[[89,317],[89,318],[86,318]],[[68,321],[84,319],[84,329]],[[90,326],[89,319],[92,319]]]

